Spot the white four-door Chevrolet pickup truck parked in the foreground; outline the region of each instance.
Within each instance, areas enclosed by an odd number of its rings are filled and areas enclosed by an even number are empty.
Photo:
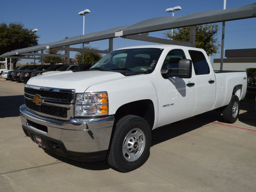
[[[214,72],[202,49],[126,47],[88,71],[29,79],[22,128],[46,152],[130,172],[147,161],[152,129],[218,108],[236,122],[246,79]]]

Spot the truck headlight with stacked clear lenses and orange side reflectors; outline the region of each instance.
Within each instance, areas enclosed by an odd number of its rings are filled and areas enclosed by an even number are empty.
[[[75,116],[108,115],[108,93],[79,93],[76,96]]]

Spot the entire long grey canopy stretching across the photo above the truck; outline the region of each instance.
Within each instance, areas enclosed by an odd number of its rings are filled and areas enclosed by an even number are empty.
[[[150,40],[152,40],[151,42],[157,42],[157,38],[145,38],[145,36],[143,37],[143,35],[138,34],[153,31],[162,31],[166,29],[182,28],[187,26],[196,26],[201,24],[223,22],[228,20],[248,19],[252,17],[256,17],[256,3],[227,10],[212,10],[193,13],[191,15],[186,15],[182,17],[156,17],[153,19],[143,20],[129,26],[120,26],[118,28],[112,28],[106,31],[99,31],[86,35],[74,36],[65,40],[60,40],[58,42],[36,45],[24,49],[17,49],[14,51],[6,52],[2,54],[1,57],[12,57],[28,52],[35,52],[40,50],[42,51],[45,49],[58,48],[86,42],[94,42],[97,40],[105,40],[116,37],[124,37],[135,40],[148,40],[149,42]],[[163,39],[159,40],[159,42],[163,43]],[[168,44],[171,43],[170,40],[166,40],[166,42],[168,42]]]

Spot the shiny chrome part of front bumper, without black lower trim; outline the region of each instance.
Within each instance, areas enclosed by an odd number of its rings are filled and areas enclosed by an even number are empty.
[[[114,116],[54,120],[36,116],[25,105],[20,106],[20,118],[27,130],[61,141],[68,151],[79,153],[108,150],[115,120]]]

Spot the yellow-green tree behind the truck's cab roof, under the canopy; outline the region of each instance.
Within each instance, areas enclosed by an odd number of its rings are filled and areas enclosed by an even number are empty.
[[[195,47],[204,49],[207,55],[216,54],[220,47],[218,44],[219,26],[218,24],[207,24],[196,26],[196,42]],[[173,30],[173,35],[170,31],[164,33],[164,37],[178,42],[189,42],[190,28],[179,28]]]

